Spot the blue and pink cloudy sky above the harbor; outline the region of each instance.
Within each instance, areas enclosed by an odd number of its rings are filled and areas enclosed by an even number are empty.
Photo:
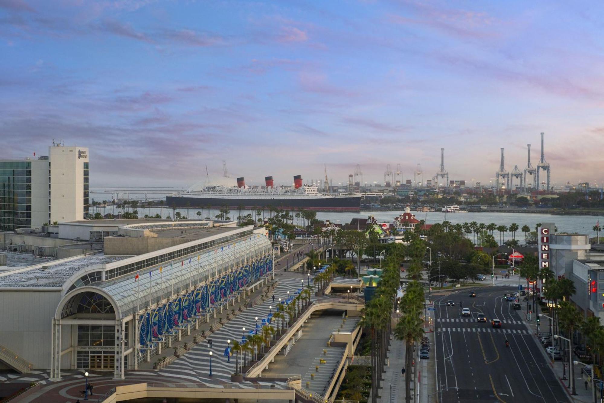
[[[87,146],[91,186],[604,181],[598,1],[0,0],[0,157]]]

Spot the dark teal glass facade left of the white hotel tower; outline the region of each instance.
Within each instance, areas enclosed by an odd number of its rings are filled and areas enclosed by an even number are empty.
[[[0,229],[31,227],[31,162],[0,162]]]

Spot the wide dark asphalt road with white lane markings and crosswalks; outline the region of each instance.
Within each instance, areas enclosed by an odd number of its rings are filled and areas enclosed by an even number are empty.
[[[430,358],[437,364],[438,399],[432,396],[429,402],[569,402],[539,351],[543,347],[503,298],[514,290],[477,287],[477,297],[469,297],[471,290],[432,296],[435,346]],[[447,300],[455,306],[446,306]],[[462,307],[471,316],[461,316]],[[487,316],[487,323],[478,323],[478,313]],[[493,329],[491,319],[500,319],[501,329]]]

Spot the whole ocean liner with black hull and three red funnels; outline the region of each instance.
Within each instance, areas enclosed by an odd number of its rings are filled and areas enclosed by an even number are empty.
[[[226,180],[226,181],[225,181]],[[191,208],[244,208],[257,209],[270,206],[278,209],[305,209],[315,211],[359,211],[360,194],[324,194],[317,186],[303,185],[302,176],[294,176],[294,186],[274,186],[272,176],[265,177],[265,186],[251,188],[245,178],[237,178],[237,185],[206,183],[191,186],[187,191],[168,195],[165,203],[173,207]]]

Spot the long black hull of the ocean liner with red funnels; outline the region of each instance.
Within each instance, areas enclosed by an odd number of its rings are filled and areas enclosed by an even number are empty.
[[[165,204],[169,207],[190,208],[229,208],[243,207],[247,210],[274,207],[278,209],[304,209],[314,211],[359,211],[361,196],[326,197],[326,198],[210,198],[210,197],[177,197],[167,196]]]

